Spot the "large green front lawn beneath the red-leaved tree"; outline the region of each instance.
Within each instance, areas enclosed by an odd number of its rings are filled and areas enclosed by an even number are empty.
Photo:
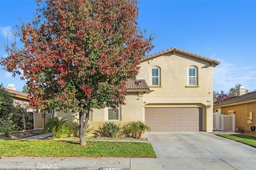
[[[155,158],[149,143],[86,141],[0,141],[0,156],[135,157]]]

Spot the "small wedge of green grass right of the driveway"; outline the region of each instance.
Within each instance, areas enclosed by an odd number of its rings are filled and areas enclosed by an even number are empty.
[[[233,141],[238,141],[240,143],[244,143],[246,145],[250,145],[251,147],[256,148],[256,136],[244,135],[244,134],[234,134],[234,135],[224,135],[218,134],[218,136],[225,137],[228,139],[232,139]]]

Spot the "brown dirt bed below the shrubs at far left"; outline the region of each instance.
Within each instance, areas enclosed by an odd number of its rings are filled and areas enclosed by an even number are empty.
[[[41,129],[29,130],[27,131],[27,134],[25,134],[24,131],[16,131],[16,132],[11,132],[10,137],[6,137],[6,135],[1,134],[0,140],[15,140],[15,139],[22,139],[25,137],[41,135],[41,131],[42,131]]]

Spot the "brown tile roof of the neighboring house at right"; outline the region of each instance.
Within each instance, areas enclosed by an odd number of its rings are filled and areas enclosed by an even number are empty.
[[[235,96],[232,98],[227,98],[224,100],[220,100],[218,102],[214,102],[214,107],[215,106],[222,106],[226,104],[233,104],[233,103],[238,103],[238,102],[246,102],[249,100],[255,100],[256,102],[256,91],[250,92],[241,96]]]

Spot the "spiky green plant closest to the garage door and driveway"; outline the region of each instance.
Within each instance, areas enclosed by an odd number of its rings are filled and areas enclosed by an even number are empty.
[[[132,131],[134,137],[136,139],[140,139],[142,136],[142,133],[144,133],[146,130],[151,131],[150,127],[145,125],[142,121],[132,121],[128,123],[127,125],[128,129]]]

